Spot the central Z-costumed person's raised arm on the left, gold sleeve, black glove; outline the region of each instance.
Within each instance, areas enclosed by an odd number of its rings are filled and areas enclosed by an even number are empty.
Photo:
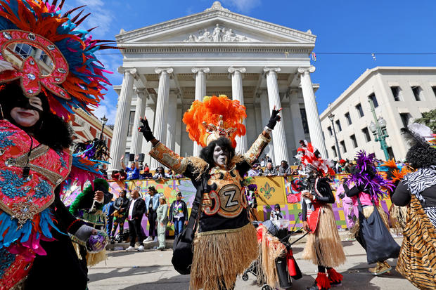
[[[160,143],[159,140],[153,136],[147,119],[141,118],[141,123],[142,126],[138,128],[139,131],[142,132],[147,142],[151,142],[153,145],[153,148],[150,150],[150,156],[177,173],[185,173],[188,160],[184,157],[180,157],[179,154]]]

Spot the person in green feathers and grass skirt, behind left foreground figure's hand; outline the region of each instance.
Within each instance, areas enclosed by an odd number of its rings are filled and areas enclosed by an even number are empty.
[[[77,195],[75,201],[70,206],[70,213],[82,220],[86,225],[105,232],[107,222],[106,215],[103,213],[103,205],[108,204],[113,197],[112,193],[109,193],[108,190],[109,184],[105,179],[95,179],[94,186],[88,185],[83,192]],[[75,236],[72,236],[71,239],[75,242],[77,256],[79,256],[86,275],[88,274],[88,267],[105,260],[106,253],[104,250],[98,253],[91,253],[88,251],[86,243]]]

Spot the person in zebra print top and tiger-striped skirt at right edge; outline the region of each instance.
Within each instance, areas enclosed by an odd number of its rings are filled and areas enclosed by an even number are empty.
[[[397,206],[409,206],[396,270],[418,289],[436,289],[436,148],[428,143],[429,128],[411,124],[402,131],[411,146],[406,162],[416,171],[392,195]]]

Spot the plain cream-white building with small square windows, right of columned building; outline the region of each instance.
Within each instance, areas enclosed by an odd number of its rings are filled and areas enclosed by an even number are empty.
[[[361,74],[320,115],[330,158],[338,159],[336,133],[342,159],[354,159],[359,150],[385,159],[371,132],[371,121],[375,121],[368,100],[374,104],[376,117],[386,121],[390,158],[402,160],[408,147],[400,129],[436,108],[436,67],[375,67]],[[329,114],[334,115],[333,125]]]

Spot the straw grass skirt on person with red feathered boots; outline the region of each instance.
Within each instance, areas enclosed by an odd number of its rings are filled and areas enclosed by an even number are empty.
[[[344,249],[330,204],[324,204],[320,210],[318,226],[308,235],[302,258],[315,265],[335,268],[345,263]]]

